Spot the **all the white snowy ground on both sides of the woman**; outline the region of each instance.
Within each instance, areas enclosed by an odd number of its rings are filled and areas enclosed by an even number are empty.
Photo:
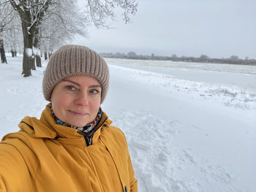
[[[0,137],[47,101],[42,75],[0,64]],[[127,135],[140,192],[254,192],[256,66],[106,59],[103,110]]]

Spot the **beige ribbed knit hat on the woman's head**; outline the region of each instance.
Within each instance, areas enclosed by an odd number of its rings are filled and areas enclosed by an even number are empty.
[[[86,74],[99,81],[102,85],[102,103],[108,92],[108,66],[98,53],[80,45],[64,45],[51,55],[42,80],[45,99],[50,101],[50,95],[58,82],[75,74]]]

